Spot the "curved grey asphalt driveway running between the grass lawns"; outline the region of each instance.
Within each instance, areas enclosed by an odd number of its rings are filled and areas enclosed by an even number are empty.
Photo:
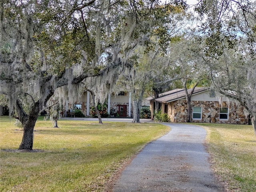
[[[206,131],[187,124],[150,142],[114,184],[113,192],[224,192],[204,148]]]

